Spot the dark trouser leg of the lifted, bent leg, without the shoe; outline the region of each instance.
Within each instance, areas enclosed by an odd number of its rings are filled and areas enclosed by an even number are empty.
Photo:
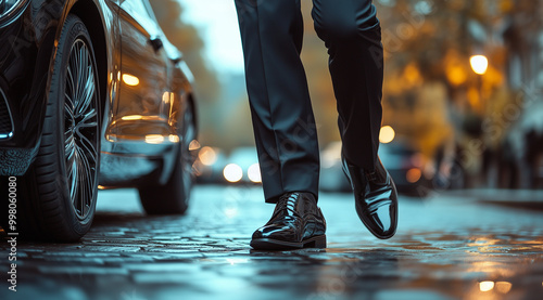
[[[374,170],[381,127],[381,27],[371,0],[314,0],[313,18],[330,54],[343,154]]]

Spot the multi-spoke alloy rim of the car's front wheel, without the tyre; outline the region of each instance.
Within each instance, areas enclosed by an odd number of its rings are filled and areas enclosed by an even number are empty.
[[[94,65],[81,39],[72,45],[64,93],[64,154],[68,192],[76,216],[93,207],[98,164],[98,93]]]

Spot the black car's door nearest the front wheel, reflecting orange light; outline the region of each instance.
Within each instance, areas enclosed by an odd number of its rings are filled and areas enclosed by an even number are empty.
[[[168,123],[172,67],[148,0],[119,3],[119,97],[111,133],[116,140],[142,140],[172,134]]]

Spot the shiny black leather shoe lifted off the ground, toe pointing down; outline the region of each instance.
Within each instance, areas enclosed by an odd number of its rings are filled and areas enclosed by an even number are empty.
[[[352,166],[344,158],[342,160],[362,222],[378,238],[391,238],[397,227],[397,192],[394,181],[379,158],[374,172]]]

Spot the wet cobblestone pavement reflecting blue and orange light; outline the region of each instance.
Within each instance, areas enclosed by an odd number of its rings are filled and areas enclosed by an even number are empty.
[[[199,186],[185,217],[146,217],[132,190],[99,195],[78,244],[17,245],[0,299],[543,299],[543,212],[441,194],[401,197],[379,240],[348,194],[323,194],[328,248],[253,251],[269,218],[257,187]]]

